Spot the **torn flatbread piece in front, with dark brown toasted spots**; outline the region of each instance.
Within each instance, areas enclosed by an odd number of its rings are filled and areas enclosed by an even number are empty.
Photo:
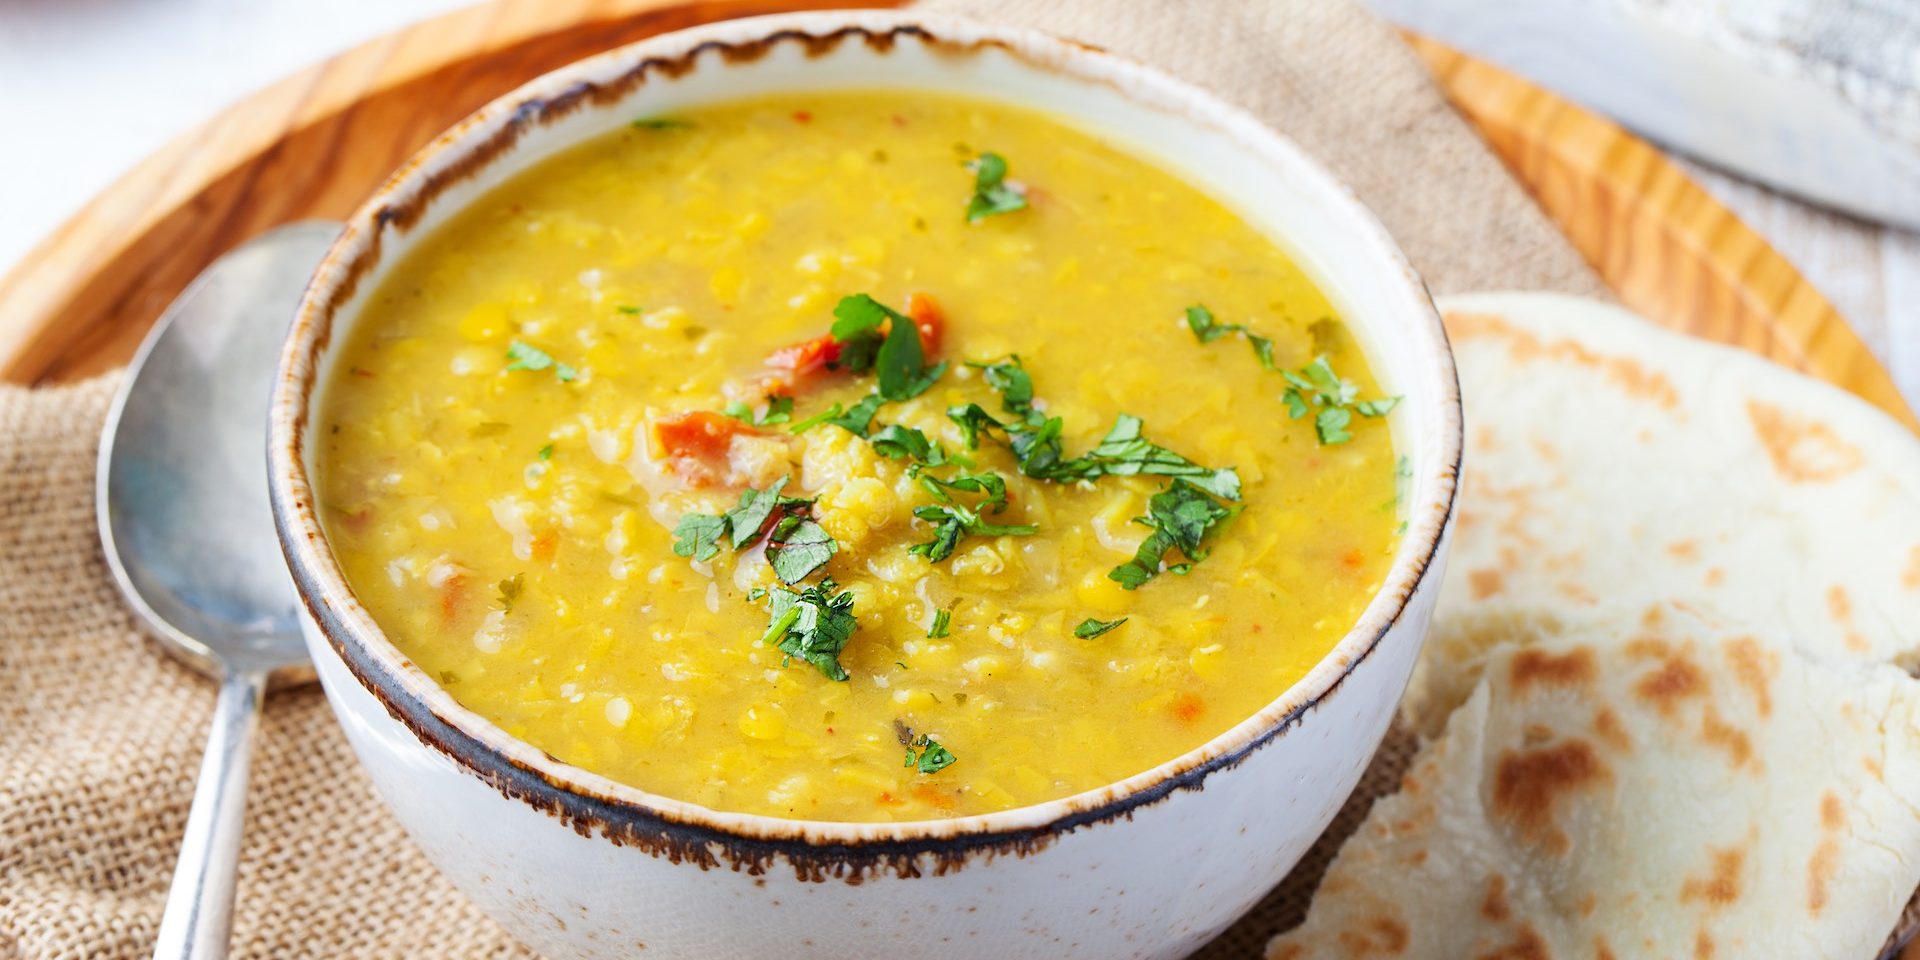
[[[1878,952],[1920,883],[1920,682],[1672,605],[1523,639],[1269,960]]]

